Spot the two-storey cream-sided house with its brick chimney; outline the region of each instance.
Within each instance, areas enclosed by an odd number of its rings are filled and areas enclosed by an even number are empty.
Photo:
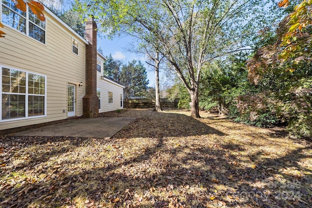
[[[0,133],[123,108],[124,87],[103,77],[93,19],[84,39],[46,7],[45,21],[11,0],[0,11]]]

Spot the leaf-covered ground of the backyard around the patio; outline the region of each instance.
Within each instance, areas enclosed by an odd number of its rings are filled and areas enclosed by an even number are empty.
[[[311,207],[311,142],[189,113],[106,113],[137,117],[111,139],[0,137],[0,207]]]

